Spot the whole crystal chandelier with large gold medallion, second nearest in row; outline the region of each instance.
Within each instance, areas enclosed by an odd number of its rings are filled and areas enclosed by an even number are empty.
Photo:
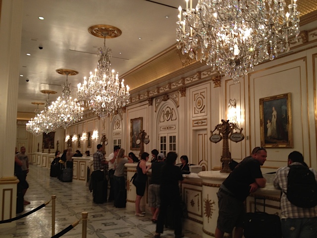
[[[104,38],[104,47],[98,48],[98,63],[95,72],[90,77],[84,77],[84,83],[79,83],[77,98],[82,105],[86,104],[100,118],[114,114],[119,108],[129,103],[129,86],[124,80],[119,82],[118,74],[111,70],[111,49],[106,47],[106,38],[121,35],[121,31],[113,26],[97,25],[89,28],[94,36]]]

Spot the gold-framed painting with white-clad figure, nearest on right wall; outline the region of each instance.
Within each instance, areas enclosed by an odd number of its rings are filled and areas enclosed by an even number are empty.
[[[291,93],[260,98],[261,146],[293,148]]]

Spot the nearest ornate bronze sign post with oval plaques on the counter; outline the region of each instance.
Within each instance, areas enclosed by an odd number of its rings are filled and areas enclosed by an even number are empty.
[[[218,130],[218,134],[213,134],[215,130]],[[234,132],[234,130],[239,130],[239,132]],[[220,173],[230,173],[229,164],[232,161],[231,153],[229,151],[229,139],[234,142],[239,142],[244,139],[244,135],[241,133],[242,128],[240,129],[236,123],[229,122],[229,120],[221,120],[220,124],[217,124],[214,127],[214,130],[211,131],[210,141],[217,143],[222,140],[222,156],[220,162],[222,163],[222,169]],[[222,136],[220,135],[222,134]]]

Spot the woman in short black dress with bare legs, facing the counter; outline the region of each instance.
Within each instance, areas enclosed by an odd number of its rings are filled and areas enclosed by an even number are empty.
[[[144,196],[146,182],[148,180],[147,173],[149,169],[151,169],[151,164],[146,165],[149,160],[149,154],[147,152],[143,152],[141,155],[141,160],[137,165],[137,178],[135,178],[134,185],[137,190],[137,197],[135,199],[135,215],[139,217],[144,217],[145,212],[140,209],[140,201]]]

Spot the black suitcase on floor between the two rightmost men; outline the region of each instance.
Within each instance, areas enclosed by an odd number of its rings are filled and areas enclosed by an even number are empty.
[[[263,199],[263,212],[257,211],[257,199]],[[246,213],[243,235],[245,238],[281,238],[281,219],[265,212],[265,198],[254,198],[254,211]]]

